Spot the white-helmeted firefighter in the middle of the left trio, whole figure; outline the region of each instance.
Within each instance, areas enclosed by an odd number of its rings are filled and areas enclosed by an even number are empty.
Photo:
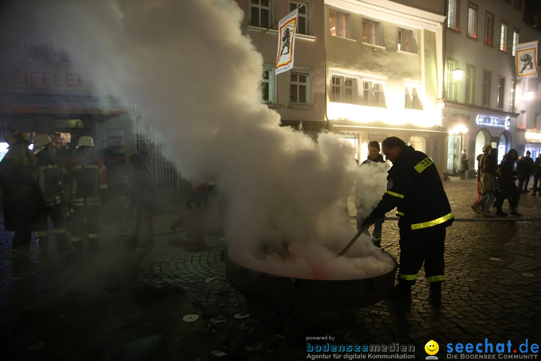
[[[55,234],[56,250],[67,255],[70,246],[68,246],[68,235],[62,206],[63,187],[60,181],[60,172],[50,153],[51,147],[52,140],[47,134],[39,134],[34,137],[32,153],[36,156],[37,179],[45,206],[42,222],[37,231],[37,244],[39,252],[47,255],[49,249],[48,218],[50,218]]]

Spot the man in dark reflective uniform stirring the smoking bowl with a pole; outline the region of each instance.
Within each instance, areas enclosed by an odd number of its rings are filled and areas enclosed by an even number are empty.
[[[430,300],[439,305],[441,283],[445,281],[445,231],[454,218],[438,169],[429,156],[398,137],[384,139],[382,148],[393,163],[388,171],[387,191],[363,225],[373,224],[397,207],[400,265],[392,298],[411,300],[411,287],[424,261]]]

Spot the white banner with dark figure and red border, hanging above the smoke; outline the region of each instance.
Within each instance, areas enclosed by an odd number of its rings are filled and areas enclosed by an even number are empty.
[[[295,47],[295,30],[299,9],[295,9],[278,22],[278,57],[276,57],[275,73],[280,74],[293,68],[293,48]]]

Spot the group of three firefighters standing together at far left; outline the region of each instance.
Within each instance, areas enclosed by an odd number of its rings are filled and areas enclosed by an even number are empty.
[[[81,136],[74,154],[62,169],[58,169],[51,156],[49,135],[36,135],[32,150],[29,149],[32,144],[29,133],[12,130],[5,140],[8,153],[0,162],[0,190],[4,228],[14,231],[14,273],[30,264],[33,231],[37,231],[40,253],[47,256],[48,218],[52,221],[56,248],[67,260],[74,252],[82,251],[84,224],[87,225],[89,251],[100,252],[98,214],[100,193],[107,189],[107,173],[103,161],[92,154],[94,140],[90,136]],[[71,221],[69,239],[66,211]]]

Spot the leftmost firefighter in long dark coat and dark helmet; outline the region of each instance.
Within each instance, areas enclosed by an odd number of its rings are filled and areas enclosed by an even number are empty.
[[[41,193],[34,176],[36,159],[28,149],[29,134],[14,130],[5,136],[8,153],[0,162],[4,228],[15,231],[11,241],[14,275],[30,264],[30,240],[41,219]]]

